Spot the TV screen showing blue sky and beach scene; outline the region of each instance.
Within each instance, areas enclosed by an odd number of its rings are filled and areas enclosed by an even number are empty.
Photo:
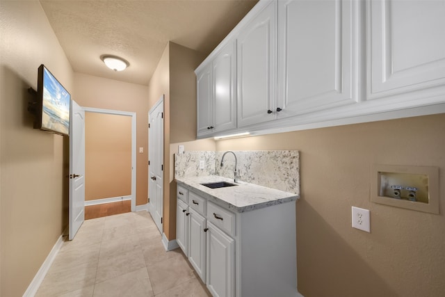
[[[69,134],[70,93],[44,68],[42,128]]]

